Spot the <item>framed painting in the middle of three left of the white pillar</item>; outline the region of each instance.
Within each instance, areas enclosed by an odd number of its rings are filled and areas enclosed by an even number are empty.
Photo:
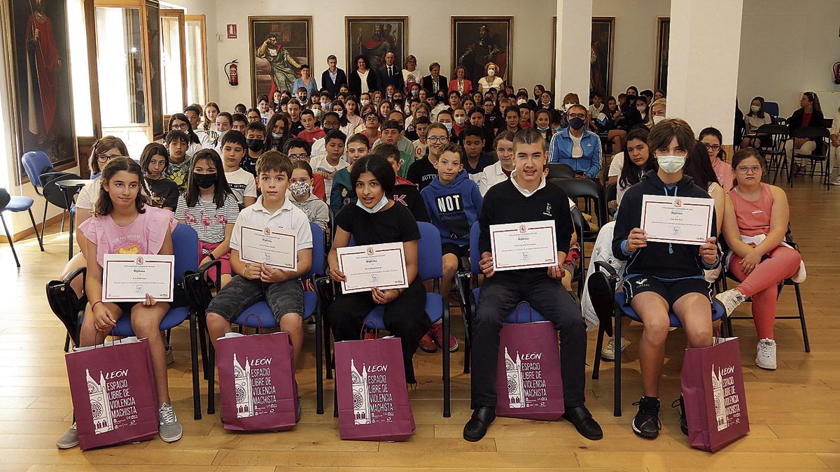
[[[394,53],[394,64],[405,67],[408,55],[408,17],[344,17],[347,73],[356,69],[354,58],[364,55],[374,71]]]

